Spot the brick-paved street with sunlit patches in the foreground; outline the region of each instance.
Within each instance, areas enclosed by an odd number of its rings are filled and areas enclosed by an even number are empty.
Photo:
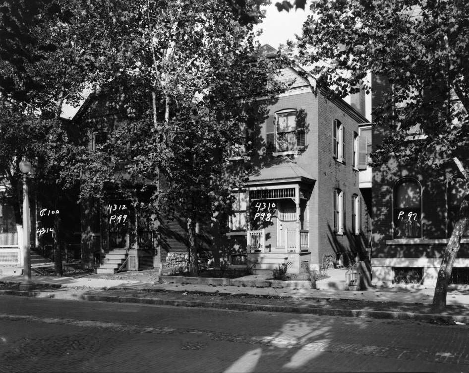
[[[468,372],[467,325],[0,297],[0,372]]]

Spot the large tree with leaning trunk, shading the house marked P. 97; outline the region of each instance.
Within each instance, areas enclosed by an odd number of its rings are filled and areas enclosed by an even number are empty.
[[[310,2],[310,8],[312,15],[296,44],[298,58],[316,64],[315,72],[333,94],[370,91],[369,72],[385,77],[392,87],[383,103],[373,108],[373,124],[389,129],[375,149],[375,164],[390,157],[430,169],[456,163],[467,190],[467,173],[458,159],[469,138],[467,2],[318,0]],[[415,125],[424,140],[406,141]],[[454,259],[468,225],[468,202],[466,192],[442,257],[433,299],[436,308],[446,306]]]

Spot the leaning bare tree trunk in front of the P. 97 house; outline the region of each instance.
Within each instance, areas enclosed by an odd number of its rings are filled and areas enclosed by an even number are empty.
[[[458,220],[451,234],[448,246],[443,253],[438,280],[436,282],[435,294],[433,295],[433,308],[436,311],[443,310],[446,307],[446,293],[448,283],[453,271],[453,263],[461,246],[461,237],[468,225],[469,220],[469,194],[465,195],[461,208],[458,213]]]

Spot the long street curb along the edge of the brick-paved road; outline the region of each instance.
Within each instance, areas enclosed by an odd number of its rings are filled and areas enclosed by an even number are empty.
[[[153,306],[175,306],[175,307],[203,307],[223,310],[236,311],[267,311],[267,312],[288,312],[288,313],[305,313],[324,316],[345,316],[345,317],[367,317],[394,320],[412,320],[435,322],[443,321],[453,323],[454,321],[469,324],[469,316],[462,315],[445,315],[433,313],[414,313],[414,312],[396,312],[396,311],[363,311],[363,310],[340,310],[340,309],[323,309],[311,307],[295,307],[295,306],[272,306],[257,305],[247,303],[220,303],[220,302],[200,302],[200,301],[184,301],[184,300],[163,300],[152,298],[136,298],[136,297],[116,297],[107,295],[88,295],[88,294],[60,294],[48,293],[40,291],[19,291],[19,290],[0,290],[0,294],[14,295],[20,297],[34,298],[54,298],[60,300],[74,301],[91,301],[91,302],[113,302],[113,303],[134,303]]]

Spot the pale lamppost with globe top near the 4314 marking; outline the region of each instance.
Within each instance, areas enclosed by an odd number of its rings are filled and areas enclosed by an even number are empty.
[[[27,175],[31,172],[31,162],[26,157],[19,163],[19,169],[23,173],[23,274],[24,280],[19,285],[20,290],[30,290],[34,287],[31,282],[31,255],[29,248],[30,236],[30,212]]]

